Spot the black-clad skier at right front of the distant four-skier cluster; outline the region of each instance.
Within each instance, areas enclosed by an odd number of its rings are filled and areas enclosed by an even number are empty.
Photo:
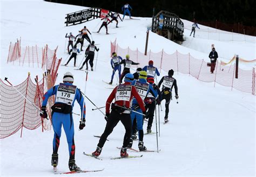
[[[95,50],[97,52],[99,51],[99,49],[94,45],[94,43],[95,42],[92,40],[92,43],[87,46],[87,49],[85,50],[85,56],[87,56],[87,57],[86,57],[83,65],[79,68],[79,70],[83,69],[85,63],[86,63],[86,70],[88,70],[88,60],[89,60],[89,64],[91,66],[91,71],[93,71],[93,59],[94,59]]]

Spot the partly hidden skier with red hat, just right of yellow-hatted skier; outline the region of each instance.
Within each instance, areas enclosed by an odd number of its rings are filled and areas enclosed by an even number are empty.
[[[147,82],[154,88],[155,91],[157,91],[156,97],[149,93],[144,100],[144,103],[146,104],[145,108],[147,110],[145,118],[149,119],[149,121],[147,122],[147,133],[151,133],[152,122],[154,119],[154,110],[156,109],[156,104],[160,105],[161,103],[161,91],[154,83],[154,78],[147,78]]]

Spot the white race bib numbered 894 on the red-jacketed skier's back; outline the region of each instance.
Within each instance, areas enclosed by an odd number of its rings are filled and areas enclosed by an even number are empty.
[[[116,101],[130,101],[132,86],[120,85],[117,87]]]

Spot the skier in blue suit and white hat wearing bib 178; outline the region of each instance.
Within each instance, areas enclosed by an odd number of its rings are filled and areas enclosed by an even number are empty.
[[[46,113],[46,104],[49,97],[55,95],[55,104],[51,107],[52,128],[54,131],[51,165],[53,167],[57,167],[58,165],[59,140],[63,126],[69,145],[69,169],[70,171],[78,171],[80,168],[75,163],[74,122],[72,117],[72,109],[75,100],[77,100],[81,110],[79,130],[82,130],[85,127],[86,111],[84,97],[77,86],[73,85],[73,81],[73,74],[66,72],[63,77],[63,83],[53,86],[44,94],[41,107],[42,113],[40,115],[42,118],[48,117]]]

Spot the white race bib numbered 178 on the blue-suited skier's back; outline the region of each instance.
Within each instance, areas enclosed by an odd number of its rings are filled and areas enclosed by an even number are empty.
[[[77,86],[60,83],[56,94],[56,102],[72,105],[76,96]]]

